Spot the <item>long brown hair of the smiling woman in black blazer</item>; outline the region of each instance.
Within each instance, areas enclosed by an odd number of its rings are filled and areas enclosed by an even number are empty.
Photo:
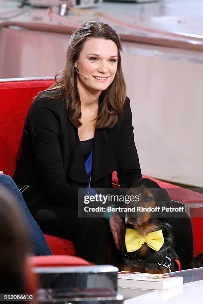
[[[120,51],[122,51],[119,35],[108,25],[100,21],[89,21],[79,27],[71,36],[66,55],[65,69],[55,76],[55,83],[47,90],[53,90],[51,96],[63,99],[66,102],[70,121],[76,127],[82,125],[81,101],[77,88],[78,74],[74,72],[74,63],[77,61],[84,43],[88,38],[103,38],[115,42],[118,49],[117,71],[112,83],[103,90],[99,97],[99,111],[96,128],[112,128],[122,112],[126,97],[126,85],[121,69]],[[46,96],[43,95],[43,96]]]

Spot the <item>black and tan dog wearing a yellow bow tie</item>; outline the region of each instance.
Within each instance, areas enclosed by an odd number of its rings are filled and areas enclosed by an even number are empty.
[[[166,217],[166,213],[162,211],[152,212],[161,210],[162,206],[173,206],[168,192],[156,182],[141,178],[136,180],[127,194],[139,197],[139,200],[128,204],[130,211],[125,216],[126,248],[121,271],[162,274],[181,270],[174,250],[173,219],[168,218],[169,214]],[[135,207],[134,210],[132,207]]]

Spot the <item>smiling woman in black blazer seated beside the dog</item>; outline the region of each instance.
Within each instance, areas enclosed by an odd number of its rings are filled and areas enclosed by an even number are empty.
[[[43,232],[72,240],[78,256],[108,262],[108,225],[78,218],[78,188],[110,188],[112,172],[130,186],[140,178],[118,34],[91,21],[71,37],[65,70],[41,92],[25,120],[14,179]],[[107,215],[117,249],[122,220]]]

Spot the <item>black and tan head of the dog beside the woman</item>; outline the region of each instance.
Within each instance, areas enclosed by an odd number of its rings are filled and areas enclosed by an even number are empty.
[[[126,213],[125,222],[131,225],[143,225],[152,217],[164,218],[161,207],[169,207],[171,202],[168,192],[149,178],[137,179],[127,194],[139,197],[139,200],[128,204],[130,209],[136,207],[135,212]]]

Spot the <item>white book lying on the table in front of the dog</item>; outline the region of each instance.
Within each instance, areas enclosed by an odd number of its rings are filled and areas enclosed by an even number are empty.
[[[166,290],[180,285],[183,285],[183,277],[130,271],[121,271],[117,275],[118,287]]]

